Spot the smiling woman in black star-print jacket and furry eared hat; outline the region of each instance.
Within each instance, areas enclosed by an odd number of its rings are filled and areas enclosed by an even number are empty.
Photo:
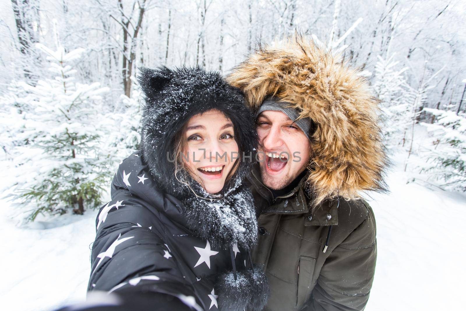
[[[257,134],[242,93],[199,67],[141,69],[138,81],[141,150],[96,219],[88,290],[139,310],[261,310],[268,284],[251,265],[257,222],[241,183]]]

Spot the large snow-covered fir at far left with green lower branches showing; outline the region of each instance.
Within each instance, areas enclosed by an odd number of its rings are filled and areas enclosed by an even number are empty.
[[[28,145],[15,150],[13,196],[33,206],[27,220],[43,212],[65,213],[101,205],[101,194],[112,175],[112,155],[100,148],[98,111],[108,91],[99,83],[75,82],[73,64],[84,51],[53,51],[36,44],[47,55],[55,78],[38,81],[28,89],[23,138]]]

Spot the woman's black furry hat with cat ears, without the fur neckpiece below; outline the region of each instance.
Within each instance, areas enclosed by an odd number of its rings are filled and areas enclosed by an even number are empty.
[[[175,165],[170,159],[173,159],[177,132],[196,114],[211,109],[223,112],[233,123],[240,152],[247,155],[254,152],[257,133],[252,112],[244,103],[242,91],[226,83],[219,72],[200,67],[172,70],[160,66],[156,69],[140,68],[137,80],[145,100],[141,153],[151,175],[167,193],[179,196],[189,192],[175,178]],[[240,161],[238,170],[222,192],[228,191],[238,179],[242,180],[250,172],[251,164],[251,161]],[[194,183],[188,174],[184,178]]]

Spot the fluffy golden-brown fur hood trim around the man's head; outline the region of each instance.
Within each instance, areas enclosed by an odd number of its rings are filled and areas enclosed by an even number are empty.
[[[355,69],[298,37],[260,47],[227,80],[244,91],[253,110],[275,95],[315,122],[308,167],[314,206],[336,196],[353,200],[364,190],[386,191],[379,101]]]

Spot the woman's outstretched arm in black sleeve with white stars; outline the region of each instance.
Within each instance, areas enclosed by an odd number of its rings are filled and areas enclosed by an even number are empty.
[[[152,231],[153,226],[161,224],[145,204],[128,189],[115,187],[114,180],[112,200],[96,218],[88,291],[115,293],[126,303],[130,297],[139,297],[139,304],[144,303],[141,299],[145,297],[148,304],[160,300],[161,305],[173,310],[182,310],[180,303],[192,307],[186,310],[201,310],[194,289],[184,282],[176,258]]]

